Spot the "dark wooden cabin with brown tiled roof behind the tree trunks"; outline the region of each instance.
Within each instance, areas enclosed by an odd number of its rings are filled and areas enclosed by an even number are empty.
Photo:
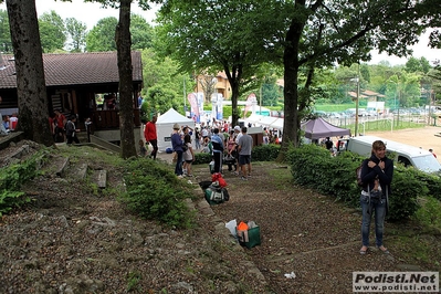
[[[12,55],[0,61],[0,113],[18,111],[15,65]],[[78,126],[91,118],[95,130],[117,130],[119,74],[116,52],[43,54],[49,112],[61,109],[78,116]],[[139,118],[138,93],[143,87],[141,53],[132,52],[133,108],[135,127]]]

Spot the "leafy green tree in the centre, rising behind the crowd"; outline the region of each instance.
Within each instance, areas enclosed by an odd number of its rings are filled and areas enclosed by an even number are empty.
[[[192,73],[223,71],[231,85],[232,124],[239,119],[238,98],[255,87],[258,66],[270,59],[273,36],[269,31],[267,1],[200,0],[165,1],[157,21],[157,50],[180,63],[180,71]]]

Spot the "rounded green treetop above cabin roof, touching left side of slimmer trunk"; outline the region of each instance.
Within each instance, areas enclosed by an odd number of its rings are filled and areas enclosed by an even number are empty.
[[[98,20],[86,35],[86,51],[116,51],[115,29],[117,24],[118,20],[113,17]]]

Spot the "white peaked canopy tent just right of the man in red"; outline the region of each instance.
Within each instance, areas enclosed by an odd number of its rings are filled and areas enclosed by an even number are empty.
[[[159,151],[165,151],[168,147],[171,148],[171,134],[175,124],[178,124],[179,126],[189,126],[191,129],[195,129],[193,119],[185,117],[174,108],[168,109],[167,113],[158,116],[158,120],[156,120]],[[195,143],[195,132],[191,140]]]

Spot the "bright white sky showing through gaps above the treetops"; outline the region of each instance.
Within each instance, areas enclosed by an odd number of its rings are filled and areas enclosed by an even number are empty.
[[[54,10],[62,19],[75,18],[87,25],[87,30],[91,30],[98,20],[107,17],[118,18],[117,9],[103,9],[98,3],[84,3],[83,0],[72,0],[72,2],[61,2],[53,0],[35,0],[36,13],[40,17],[44,12]],[[141,15],[150,24],[155,24],[155,13],[158,10],[158,6],[153,6],[151,10],[143,11],[137,3],[132,6],[132,11],[136,14]],[[6,4],[0,4],[0,9],[6,10]],[[441,60],[441,49],[430,49],[428,46],[429,33],[421,36],[420,42],[413,45],[413,56],[420,59],[424,56],[430,63],[435,60]],[[388,61],[391,65],[405,64],[407,59],[399,59],[396,56],[388,56],[387,54],[378,54],[372,52],[372,60],[369,64],[378,64],[381,61]]]

